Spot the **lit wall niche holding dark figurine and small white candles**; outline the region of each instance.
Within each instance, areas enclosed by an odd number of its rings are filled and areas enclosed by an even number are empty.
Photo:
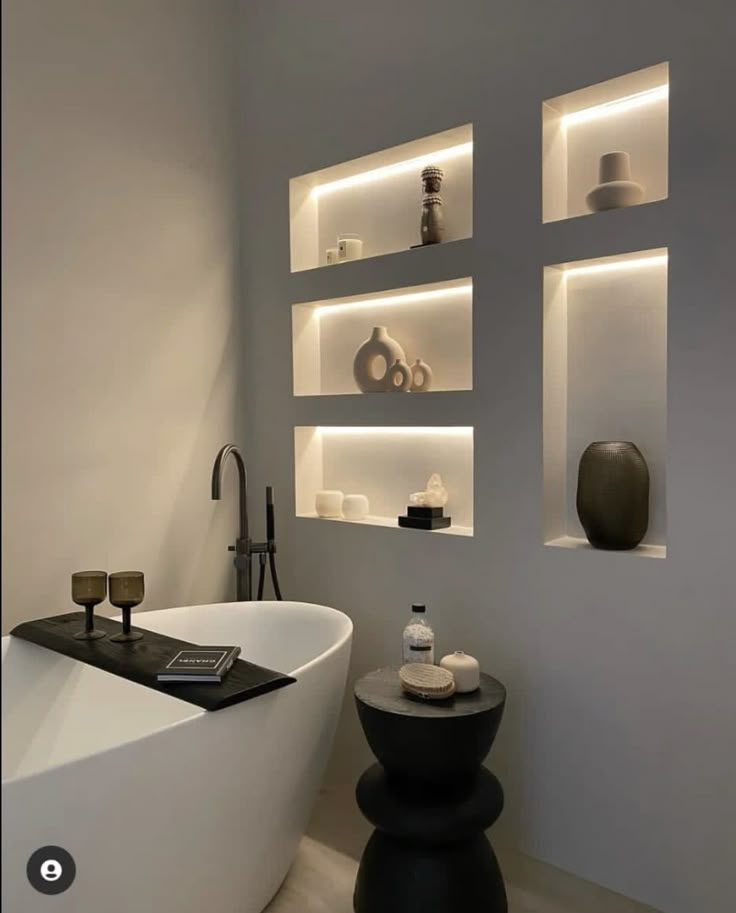
[[[444,243],[472,237],[473,127],[466,124],[292,178],[291,271],[326,266],[328,249],[345,233],[362,241],[362,259],[419,244],[420,174],[430,164],[444,172]]]

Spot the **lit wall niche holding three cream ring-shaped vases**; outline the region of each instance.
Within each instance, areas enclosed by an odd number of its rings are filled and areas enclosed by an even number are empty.
[[[387,328],[410,365],[429,365],[432,390],[473,387],[471,279],[310,301],[291,313],[295,396],[360,395],[353,359],[375,326]]]

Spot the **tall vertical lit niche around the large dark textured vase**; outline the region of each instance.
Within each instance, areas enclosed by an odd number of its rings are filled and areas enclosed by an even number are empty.
[[[615,554],[664,558],[665,248],[545,267],[543,398],[545,543],[590,548],[575,503],[580,457],[593,441],[633,441],[649,466],[649,528]]]

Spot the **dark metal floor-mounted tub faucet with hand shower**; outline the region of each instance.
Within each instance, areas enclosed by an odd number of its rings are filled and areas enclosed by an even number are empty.
[[[271,580],[277,599],[281,599],[281,588],[276,573],[276,534],[273,512],[273,488],[266,488],[266,536],[265,542],[252,542],[248,526],[248,473],[245,460],[235,444],[225,444],[215,458],[212,467],[212,500],[219,501],[222,492],[222,473],[227,458],[232,456],[238,467],[238,498],[240,505],[240,528],[235,545],[228,550],[235,552],[233,564],[236,573],[236,594],[238,602],[253,598],[253,555],[259,556],[260,573],[258,575],[258,599],[263,598],[263,587],[266,580],[266,561],[271,570]]]

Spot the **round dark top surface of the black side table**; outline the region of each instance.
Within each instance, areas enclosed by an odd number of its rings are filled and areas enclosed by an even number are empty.
[[[407,694],[401,687],[398,667],[369,672],[355,683],[355,697],[384,713],[424,719],[447,719],[485,713],[506,700],[506,689],[497,679],[481,673],[480,688],[470,694],[454,694],[441,701],[426,701]]]

